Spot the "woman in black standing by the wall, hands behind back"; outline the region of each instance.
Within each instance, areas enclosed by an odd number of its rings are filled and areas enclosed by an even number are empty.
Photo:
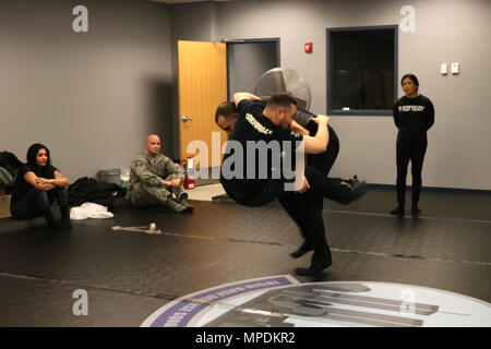
[[[397,129],[397,207],[392,215],[404,215],[406,195],[407,166],[411,160],[412,202],[411,214],[418,215],[421,192],[421,170],[427,152],[427,131],[434,122],[434,108],[431,100],[418,93],[419,82],[416,75],[406,74],[400,80],[404,97],[394,105],[394,122]]]

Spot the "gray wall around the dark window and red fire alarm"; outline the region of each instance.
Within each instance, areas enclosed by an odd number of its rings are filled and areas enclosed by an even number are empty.
[[[403,5],[416,9],[416,32],[399,31],[398,74],[417,74],[420,93],[432,99],[436,111],[428,135],[423,185],[491,190],[491,107],[487,100],[491,1],[220,2],[215,4],[214,34],[216,40],[280,37],[282,65],[304,77],[312,89],[311,110],[325,113],[326,28],[399,24]],[[303,52],[304,41],[313,41],[313,53]],[[443,62],[459,62],[460,74],[442,76]],[[403,95],[400,88],[398,94]],[[371,183],[395,184],[396,129],[392,118],[331,120],[340,137],[332,173],[357,173]]]

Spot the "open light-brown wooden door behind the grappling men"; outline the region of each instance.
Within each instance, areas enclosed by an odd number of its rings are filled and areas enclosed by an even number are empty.
[[[191,142],[202,141],[208,149],[208,167],[219,167],[221,154],[217,157],[216,152],[220,152],[227,135],[215,124],[215,110],[227,100],[226,44],[178,41],[178,86],[180,158],[193,155],[187,152]],[[217,133],[212,146],[213,132],[219,132],[219,149]]]

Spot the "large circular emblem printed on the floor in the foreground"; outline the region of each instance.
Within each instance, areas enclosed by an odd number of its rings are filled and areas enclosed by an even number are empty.
[[[491,304],[458,293],[372,281],[300,284],[290,275],[220,285],[155,311],[142,327],[491,326]]]

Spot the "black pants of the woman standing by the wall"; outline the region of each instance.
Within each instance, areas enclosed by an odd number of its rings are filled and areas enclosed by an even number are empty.
[[[421,140],[417,142],[397,142],[396,144],[396,161],[397,161],[397,203],[404,206],[406,195],[406,177],[407,166],[411,160],[412,174],[412,206],[417,206],[419,195],[421,193],[421,171],[427,153],[428,142]]]

